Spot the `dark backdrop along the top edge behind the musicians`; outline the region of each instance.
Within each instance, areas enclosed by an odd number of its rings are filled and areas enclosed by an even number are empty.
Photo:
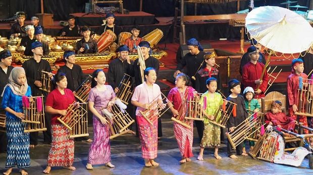
[[[139,11],[139,0],[125,0],[124,8],[129,11]],[[286,0],[261,0],[254,1],[256,7],[271,5],[281,6],[280,3]],[[44,13],[54,14],[55,20],[64,20],[68,14],[85,12],[85,3],[89,0],[44,0]],[[240,3],[240,10],[247,9],[249,1]],[[298,0],[300,6],[309,7],[309,0]],[[297,4],[292,4],[297,5]],[[108,4],[106,4],[108,6]],[[111,6],[118,7],[118,4]],[[175,7],[180,7],[178,0],[143,0],[142,9],[144,12],[154,14],[156,17],[174,16]],[[307,9],[299,9],[307,10]],[[0,19],[12,17],[16,12],[24,11],[27,14],[27,20],[34,14],[40,13],[40,0],[0,0]],[[198,4],[197,15],[215,15],[236,13],[237,3],[224,4]],[[186,15],[194,15],[194,4],[186,4]]]

